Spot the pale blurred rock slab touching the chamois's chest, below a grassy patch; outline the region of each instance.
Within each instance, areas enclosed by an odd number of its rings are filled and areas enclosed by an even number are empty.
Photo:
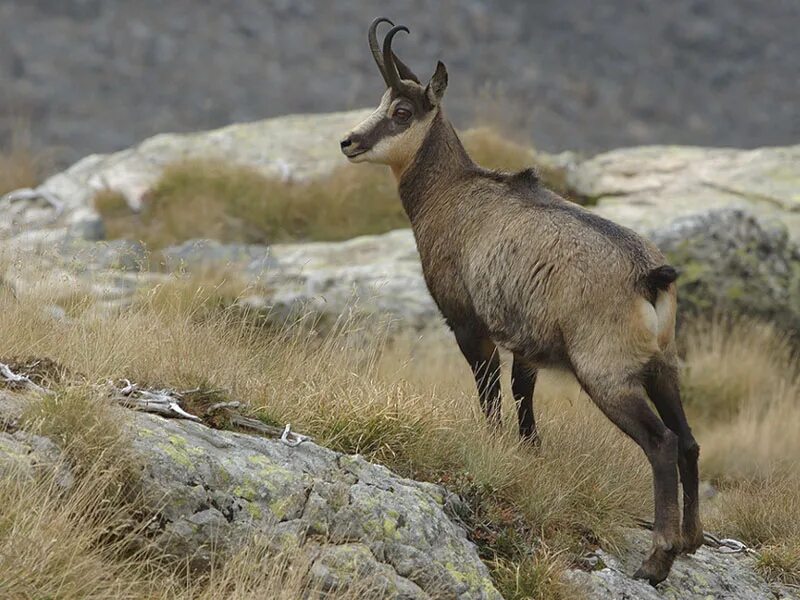
[[[304,311],[336,318],[348,310],[360,316],[401,317],[405,325],[417,328],[439,319],[409,229],[345,242],[273,246],[190,240],[162,254],[169,271],[238,272],[264,292],[239,303],[276,320]]]

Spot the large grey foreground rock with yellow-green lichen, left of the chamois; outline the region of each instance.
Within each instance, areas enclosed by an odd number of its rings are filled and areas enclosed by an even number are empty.
[[[152,543],[204,568],[254,534],[299,546],[333,589],[373,578],[402,598],[500,598],[439,486],[307,442],[218,431],[133,414],[143,491],[161,506]]]

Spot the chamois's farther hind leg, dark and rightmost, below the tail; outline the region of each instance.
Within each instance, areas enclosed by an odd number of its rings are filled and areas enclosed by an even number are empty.
[[[683,487],[683,551],[692,554],[703,544],[697,469],[700,446],[683,412],[674,353],[650,365],[644,385],[661,419],[678,436],[678,470]]]

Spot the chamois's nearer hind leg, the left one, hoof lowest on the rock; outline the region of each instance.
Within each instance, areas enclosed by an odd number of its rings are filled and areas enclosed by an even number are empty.
[[[576,375],[594,403],[644,450],[650,462],[655,496],[653,546],[634,577],[656,585],[669,575],[681,545],[678,436],[650,409],[643,386],[631,382],[630,378],[625,383],[616,383],[603,376],[587,377],[580,372]]]

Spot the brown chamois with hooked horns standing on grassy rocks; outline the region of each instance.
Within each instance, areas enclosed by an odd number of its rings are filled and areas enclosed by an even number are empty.
[[[379,48],[376,30],[392,28]],[[537,369],[571,370],[653,471],[653,546],[635,573],[651,584],[703,541],[697,459],[678,388],[677,273],[658,249],[544,187],[531,169],[483,169],[442,112],[447,70],[423,86],[392,51],[404,26],[369,27],[386,92],[341,141],[352,162],[391,167],[430,290],[472,368],[490,423],[500,420],[497,347],[513,354],[520,435],[538,440]],[[652,400],[660,419],[651,410]],[[683,486],[683,525],[678,507]]]

